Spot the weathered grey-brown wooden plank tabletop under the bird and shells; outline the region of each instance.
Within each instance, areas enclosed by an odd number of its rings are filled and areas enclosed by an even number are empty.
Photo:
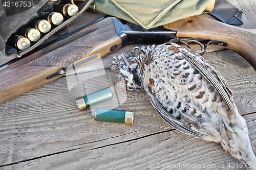
[[[256,28],[252,17],[255,9],[251,7],[256,1],[229,2],[246,9],[245,28]],[[112,87],[109,64],[113,56],[133,47],[103,58],[103,74],[84,78],[86,91]],[[256,143],[255,71],[229,50],[209,52],[204,58],[229,83]],[[84,89],[78,84],[70,90],[70,80],[69,76],[62,77],[0,105],[0,169],[229,169],[229,163],[240,164],[219,143],[168,126],[142,90],[117,92],[118,100],[125,101],[117,109],[135,113],[133,126],[96,122],[91,109],[78,111],[74,99],[83,95]],[[111,106],[105,102],[98,107]]]

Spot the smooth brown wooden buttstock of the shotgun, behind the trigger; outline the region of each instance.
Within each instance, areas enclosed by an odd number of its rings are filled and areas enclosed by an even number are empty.
[[[177,31],[177,37],[203,38],[226,42],[226,48],[240,54],[256,71],[255,30],[230,26],[200,16],[184,18],[164,25],[164,27]]]

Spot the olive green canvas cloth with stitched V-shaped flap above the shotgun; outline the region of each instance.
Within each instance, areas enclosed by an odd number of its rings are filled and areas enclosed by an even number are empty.
[[[95,11],[109,14],[145,29],[210,12],[215,0],[94,0]]]

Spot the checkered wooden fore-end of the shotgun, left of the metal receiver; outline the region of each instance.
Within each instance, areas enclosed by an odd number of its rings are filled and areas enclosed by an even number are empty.
[[[0,103],[61,77],[58,71],[78,60],[95,54],[104,57],[121,47],[112,18],[100,20],[0,69]]]

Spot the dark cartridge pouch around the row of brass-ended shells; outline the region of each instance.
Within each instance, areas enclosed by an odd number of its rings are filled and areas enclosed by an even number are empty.
[[[1,3],[2,1],[2,3]],[[12,0],[0,0],[0,51],[6,56],[20,57],[35,49],[45,40],[51,37],[54,33],[60,31],[77,19],[89,7],[93,0],[73,1],[73,0],[26,0],[24,3],[16,3]],[[8,3],[9,2],[9,3]],[[13,3],[12,3],[13,2]],[[18,1],[16,1],[18,2]],[[30,23],[36,19],[45,18],[51,12],[56,12],[61,4],[74,4],[78,7],[78,13],[72,17],[65,17],[63,22],[58,25],[52,25],[48,33],[41,33],[40,39],[36,42],[31,42],[27,50],[17,50],[11,42],[15,34],[20,33],[20,28],[30,27]],[[59,8],[61,9],[61,8]]]

